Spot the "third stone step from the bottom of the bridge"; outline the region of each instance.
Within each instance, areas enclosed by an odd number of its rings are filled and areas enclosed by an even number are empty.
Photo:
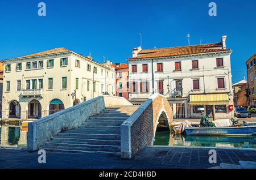
[[[67,137],[55,137],[51,139],[51,142],[55,143],[85,143],[85,144],[106,144],[106,145],[120,145],[120,140],[110,140],[110,139],[89,139],[89,138],[67,138]]]

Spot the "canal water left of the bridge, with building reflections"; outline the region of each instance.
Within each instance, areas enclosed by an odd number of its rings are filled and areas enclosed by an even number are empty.
[[[27,128],[0,123],[0,147],[27,147]]]

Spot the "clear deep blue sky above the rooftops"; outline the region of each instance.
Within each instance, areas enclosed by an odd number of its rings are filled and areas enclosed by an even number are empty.
[[[38,3],[47,16],[38,16]],[[209,16],[216,2],[217,16]],[[228,35],[233,83],[246,75],[245,61],[256,53],[256,1],[162,0],[0,0],[0,59],[65,47],[77,53],[103,55],[115,62],[131,57],[134,46],[157,48],[218,42]]]

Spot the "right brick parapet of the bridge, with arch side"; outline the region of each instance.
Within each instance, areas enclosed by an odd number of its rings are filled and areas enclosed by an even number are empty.
[[[166,114],[169,126],[172,110],[167,98],[159,93],[150,96],[121,125],[121,157],[132,158],[137,152],[152,145],[160,114]]]

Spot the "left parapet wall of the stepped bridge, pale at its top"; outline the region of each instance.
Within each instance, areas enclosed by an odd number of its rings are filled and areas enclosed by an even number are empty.
[[[81,104],[61,110],[28,123],[28,150],[35,151],[58,132],[79,127],[86,119],[110,106],[132,105],[123,97],[98,96]]]

